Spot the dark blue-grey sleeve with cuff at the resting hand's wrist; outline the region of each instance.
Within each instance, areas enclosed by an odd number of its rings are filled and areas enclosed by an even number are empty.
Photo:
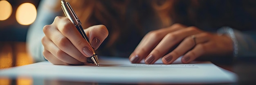
[[[256,56],[256,31],[238,31],[229,27],[218,30],[219,34],[228,34],[233,40],[234,57]]]

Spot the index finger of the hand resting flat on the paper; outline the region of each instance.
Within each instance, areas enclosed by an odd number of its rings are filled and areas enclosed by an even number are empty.
[[[164,28],[156,31],[149,32],[136,47],[135,51],[130,55],[130,61],[132,63],[139,63],[142,59],[147,57],[147,55],[157,46],[157,44],[164,38],[169,32],[174,32],[185,28],[181,24],[174,24],[169,28]],[[155,61],[157,59],[150,59],[150,61]]]

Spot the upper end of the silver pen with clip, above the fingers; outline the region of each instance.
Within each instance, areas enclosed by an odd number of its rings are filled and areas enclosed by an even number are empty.
[[[78,19],[76,13],[73,8],[70,6],[69,2],[65,2],[65,0],[61,0],[61,8],[65,14],[65,16],[70,19],[75,26],[81,25],[81,21]]]

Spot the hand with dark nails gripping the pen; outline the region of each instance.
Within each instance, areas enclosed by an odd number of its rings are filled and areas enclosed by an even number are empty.
[[[108,36],[104,25],[91,26],[84,30],[96,50]],[[43,27],[43,55],[56,65],[83,65],[93,55],[90,45],[81,36],[74,24],[66,17],[56,17],[51,25]]]

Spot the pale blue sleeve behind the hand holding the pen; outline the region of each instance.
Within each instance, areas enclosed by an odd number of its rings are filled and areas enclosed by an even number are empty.
[[[47,24],[51,24],[54,18],[61,14],[60,11],[54,11],[55,5],[61,2],[59,0],[41,0],[37,8],[37,17],[34,23],[28,29],[26,46],[27,51],[33,57],[34,62],[45,61],[43,56],[43,45],[41,39],[45,34],[43,33],[43,27]]]

